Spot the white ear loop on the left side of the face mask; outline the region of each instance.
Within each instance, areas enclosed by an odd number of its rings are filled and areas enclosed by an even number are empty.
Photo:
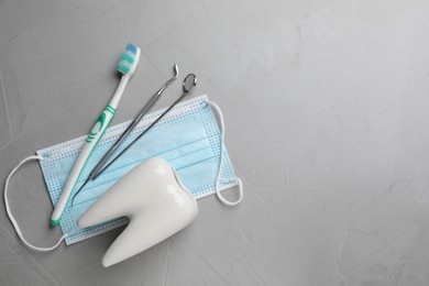
[[[18,222],[16,220],[14,219],[14,217],[12,216],[12,212],[10,210],[10,207],[9,207],[9,201],[8,201],[8,187],[9,187],[9,182],[10,179],[12,178],[13,174],[15,174],[15,172],[23,165],[25,164],[26,162],[29,161],[32,161],[32,160],[40,160],[40,161],[43,161],[43,157],[42,156],[29,156],[26,158],[24,158],[23,161],[20,162],[20,164],[18,164],[13,169],[12,172],[9,174],[8,178],[6,179],[6,184],[4,184],[4,205],[6,205],[6,211],[8,213],[8,217],[10,219],[10,221],[12,222],[13,224],[13,228],[15,229],[16,231],[16,234],[18,237],[21,239],[21,241],[24,243],[24,245],[33,251],[38,251],[38,252],[46,252],[46,251],[53,251],[55,250],[56,248],[58,248],[58,245],[63,242],[63,240],[65,238],[67,238],[69,234],[68,233],[65,233],[63,234],[63,237],[58,240],[58,242],[52,246],[52,248],[37,248],[37,246],[34,246],[32,244],[30,244],[25,239],[24,237],[22,235],[22,232],[21,232],[21,229],[20,227],[18,226]]]

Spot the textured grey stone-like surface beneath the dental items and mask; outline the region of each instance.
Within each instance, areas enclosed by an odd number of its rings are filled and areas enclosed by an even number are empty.
[[[90,129],[133,42],[143,57],[114,123],[174,63],[195,73],[245,198],[200,200],[189,228],[110,268],[120,230],[34,253],[2,210],[0,285],[428,285],[428,13],[425,0],[1,0],[1,180]],[[10,197],[31,242],[59,238],[36,163]]]

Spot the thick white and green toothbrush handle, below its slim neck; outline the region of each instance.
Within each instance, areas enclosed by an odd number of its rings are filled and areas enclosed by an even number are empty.
[[[80,176],[81,170],[84,169],[92,150],[96,147],[98,141],[103,135],[107,127],[114,116],[116,109],[112,106],[107,106],[105,111],[98,118],[97,122],[94,124],[91,131],[89,132],[86,143],[84,144],[79,156],[77,157],[75,165],[68,176],[66,184],[64,185],[62,195],[55,206],[54,212],[51,217],[51,226],[56,226],[59,222],[59,219],[63,215],[64,208],[67,205],[67,201],[72,195],[73,188],[75,187],[77,179]]]

